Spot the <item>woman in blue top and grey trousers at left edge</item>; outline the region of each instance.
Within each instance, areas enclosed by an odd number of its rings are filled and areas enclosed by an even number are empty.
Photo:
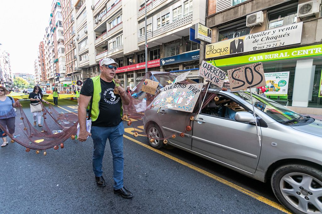
[[[5,87],[0,86],[0,124],[4,128],[8,129],[10,134],[13,134],[15,128],[14,122],[16,118],[14,108],[20,107],[20,103],[19,101],[14,102],[12,97],[6,96],[8,93],[9,91]],[[5,147],[8,145],[7,135],[2,129],[0,129],[0,134],[3,140],[1,147]]]

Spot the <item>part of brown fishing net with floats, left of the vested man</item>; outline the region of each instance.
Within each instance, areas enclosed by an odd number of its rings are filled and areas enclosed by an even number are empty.
[[[10,134],[0,124],[0,128],[12,139],[26,148],[26,151],[58,149],[64,147],[64,141],[73,138],[77,131],[78,116],[75,113],[59,113],[51,105],[42,105],[43,126],[40,128],[30,123],[22,107],[17,107],[16,127],[14,134]],[[46,153],[44,153],[46,154]]]

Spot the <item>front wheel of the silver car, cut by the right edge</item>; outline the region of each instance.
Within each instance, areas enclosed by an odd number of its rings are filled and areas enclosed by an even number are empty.
[[[277,168],[271,177],[276,198],[294,213],[322,213],[322,171],[291,164]]]

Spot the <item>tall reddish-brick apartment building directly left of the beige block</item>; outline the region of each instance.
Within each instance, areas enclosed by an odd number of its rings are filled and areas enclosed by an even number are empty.
[[[65,40],[65,61],[66,73],[61,77],[60,81],[63,90],[73,90],[71,81],[82,80],[82,70],[77,64],[77,48],[76,48],[76,29],[75,29],[75,0],[62,0],[62,26],[64,29]],[[71,87],[72,86],[72,87]]]

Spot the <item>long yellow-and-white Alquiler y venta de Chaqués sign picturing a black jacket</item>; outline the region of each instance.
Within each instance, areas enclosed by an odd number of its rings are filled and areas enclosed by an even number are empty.
[[[206,58],[301,43],[303,22],[206,45]]]

